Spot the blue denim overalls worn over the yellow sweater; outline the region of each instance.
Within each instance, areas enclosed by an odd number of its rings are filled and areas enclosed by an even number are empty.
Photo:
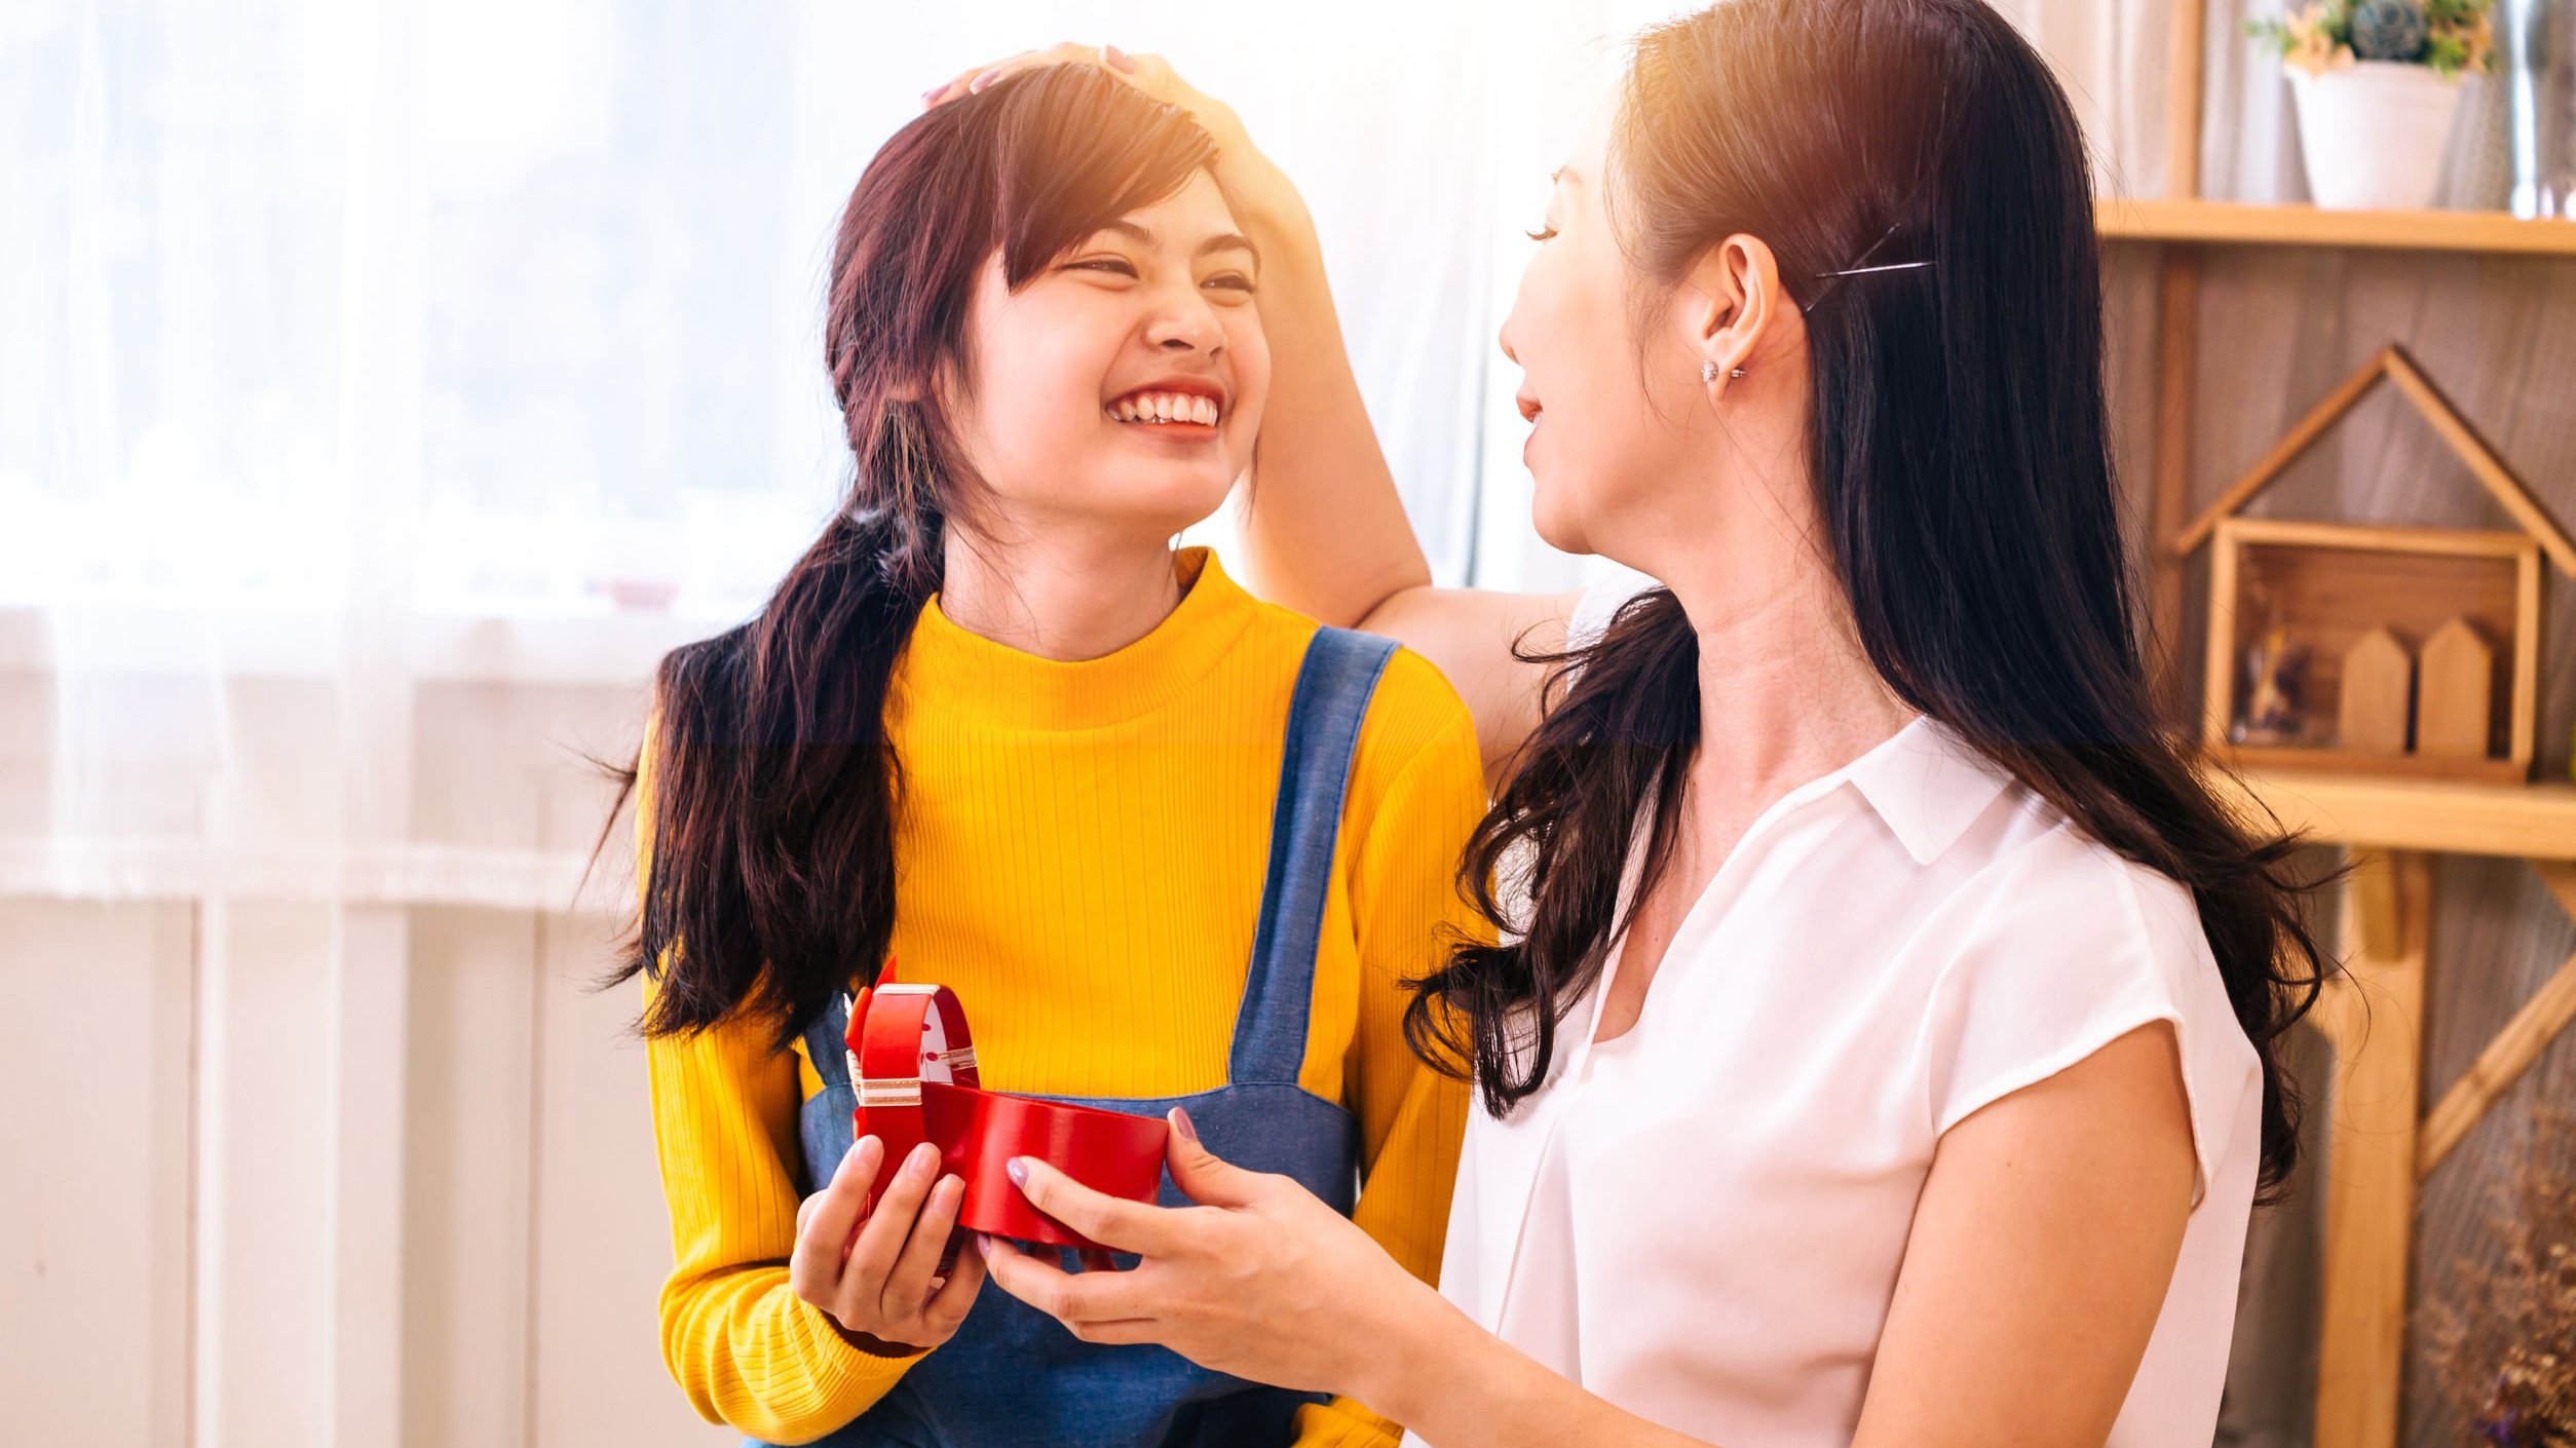
[[[1216,1090],[1154,1100],[1077,1100],[1133,1116],[1190,1108],[1218,1157],[1285,1172],[1345,1216],[1358,1188],[1358,1126],[1340,1103],[1296,1085],[1314,1002],[1314,948],[1324,922],[1342,794],[1360,719],[1394,644],[1319,629],[1288,706],[1288,750],[1270,817],[1270,868],[1252,935],[1244,1002],[1234,1018],[1229,1080]],[[969,1002],[971,1007],[971,1002]],[[806,1190],[829,1180],[850,1149],[848,1007],[835,1000],[804,1043],[824,1090],[804,1103]],[[989,1054],[989,1049],[987,1049]],[[1188,1198],[1162,1180],[1162,1203]],[[1066,1265],[1072,1252],[1064,1255]],[[1118,1257],[1121,1268],[1133,1257]],[[912,1363],[876,1407],[819,1443],[832,1448],[1015,1448],[1015,1445],[1260,1445],[1288,1443],[1301,1402],[1211,1373],[1170,1348],[1082,1342],[1056,1319],[987,1283],[956,1337]]]

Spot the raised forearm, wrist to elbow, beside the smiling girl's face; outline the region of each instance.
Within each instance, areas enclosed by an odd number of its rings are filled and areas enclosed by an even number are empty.
[[[1270,173],[1275,175],[1275,173]],[[1360,624],[1378,603],[1432,580],[1368,425],[1332,307],[1324,250],[1285,180],[1242,188],[1239,216],[1262,250],[1270,405],[1239,502],[1255,587],[1324,624]]]

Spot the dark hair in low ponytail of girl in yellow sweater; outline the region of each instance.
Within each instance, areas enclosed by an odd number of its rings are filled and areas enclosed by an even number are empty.
[[[649,861],[616,982],[652,974],[644,1031],[737,1010],[788,1038],[894,933],[902,768],[886,685],[971,526],[943,386],[969,376],[966,307],[999,252],[1012,291],[1066,247],[1180,191],[1213,144],[1182,111],[1087,67],[1041,67],[927,111],[850,193],[832,245],[824,366],[855,469],[822,538],[760,608],[672,649],[654,727]]]

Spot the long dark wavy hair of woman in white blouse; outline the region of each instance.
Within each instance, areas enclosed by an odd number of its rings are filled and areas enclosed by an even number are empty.
[[[1749,232],[1814,307],[1806,451],[1860,644],[1911,709],[2192,891],[2262,1056],[2275,1190],[2298,1154],[2277,1043],[2331,964],[2293,845],[2249,837],[2156,721],[2092,180],[2048,67],[1978,0],[1728,0],[1638,39],[1610,173],[1641,304]],[[1857,258],[1935,265],[1821,276]],[[1427,1059],[1473,1062],[1497,1116],[1538,1090],[1561,1010],[1600,982],[1649,801],[1646,884],[1667,868],[1700,734],[1698,636],[1667,590],[1538,660],[1558,670],[1548,711],[1461,873],[1504,938],[1461,943],[1406,1018]],[[1507,907],[1520,889],[1528,907]]]

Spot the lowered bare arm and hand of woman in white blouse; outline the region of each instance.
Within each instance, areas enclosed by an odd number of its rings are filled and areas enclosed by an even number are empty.
[[[1337,1391],[1443,1448],[1692,1443],[1546,1371],[1293,1180],[1211,1157],[1180,1118],[1170,1165],[1200,1206],[1115,1201],[1028,1162],[1041,1211],[1144,1262],[1077,1278],[992,1244],[994,1286],[1082,1340],[1162,1342]],[[2190,1108],[2161,1023],[1953,1126],[1852,1448],[2099,1448],[2156,1329],[2190,1198]]]

